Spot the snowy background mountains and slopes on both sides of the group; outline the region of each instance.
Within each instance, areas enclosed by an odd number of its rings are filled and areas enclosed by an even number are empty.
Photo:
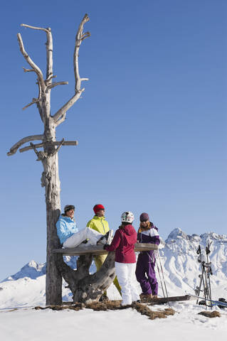
[[[201,245],[202,253],[205,254],[208,242],[211,243],[212,296],[213,298],[227,297],[227,236],[214,232],[204,233],[200,236],[188,235],[181,229],[174,229],[166,241],[162,241],[159,245],[156,273],[160,296],[163,296],[164,281],[169,296],[194,293],[201,273],[196,250]],[[76,257],[65,256],[65,261],[75,269]],[[95,271],[94,263],[90,271],[92,273]],[[30,261],[19,272],[6,278],[0,284],[0,307],[45,304],[45,274],[46,264]],[[63,283],[63,301],[70,301],[71,293],[65,286]],[[139,283],[137,286],[140,290]],[[110,286],[108,295],[112,299],[119,298],[115,286]]]

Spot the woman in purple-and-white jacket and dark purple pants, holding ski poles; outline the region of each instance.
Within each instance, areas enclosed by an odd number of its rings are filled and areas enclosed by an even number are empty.
[[[159,233],[157,227],[149,221],[149,215],[142,213],[139,217],[140,225],[137,233],[139,243],[152,243],[159,245]],[[142,251],[137,259],[136,276],[142,288],[143,298],[154,298],[158,294],[158,283],[154,271],[155,258],[154,251]]]

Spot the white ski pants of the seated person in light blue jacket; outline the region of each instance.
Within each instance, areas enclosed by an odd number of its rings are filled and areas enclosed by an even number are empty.
[[[103,234],[95,231],[95,229],[90,229],[90,227],[85,227],[79,232],[73,234],[73,236],[63,242],[63,247],[78,247],[85,239],[89,239],[87,244],[83,245],[96,245]]]

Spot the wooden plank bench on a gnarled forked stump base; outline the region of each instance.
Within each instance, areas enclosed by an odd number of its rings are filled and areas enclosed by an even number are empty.
[[[134,251],[157,250],[156,244],[137,243]],[[106,251],[103,245],[80,244],[79,247],[53,249],[56,254],[56,264],[61,276],[68,283],[68,288],[73,293],[73,302],[97,301],[102,293],[109,288],[115,278],[115,251]],[[73,270],[65,264],[63,256],[80,256],[77,269]],[[90,274],[89,269],[93,256],[106,254],[104,264],[95,274]]]

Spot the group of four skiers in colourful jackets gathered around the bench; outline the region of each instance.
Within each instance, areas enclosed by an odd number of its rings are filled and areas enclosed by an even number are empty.
[[[142,251],[138,259],[134,252],[134,244],[152,243],[159,244],[159,233],[157,227],[149,221],[149,215],[142,213],[139,217],[140,224],[138,232],[132,226],[134,215],[132,212],[123,212],[120,227],[115,232],[109,228],[105,220],[105,207],[97,204],[93,207],[95,215],[85,229],[78,230],[75,224],[74,205],[66,205],[64,213],[60,215],[56,223],[57,234],[62,247],[78,247],[86,243],[87,245],[103,244],[107,251],[115,251],[115,271],[114,284],[122,296],[122,305],[130,305],[141,298],[157,297],[158,283],[154,271],[155,258],[154,251]],[[106,255],[95,256],[97,271],[106,259]],[[142,293],[139,296],[134,285],[134,276],[140,283]],[[105,292],[101,300],[107,299]]]

